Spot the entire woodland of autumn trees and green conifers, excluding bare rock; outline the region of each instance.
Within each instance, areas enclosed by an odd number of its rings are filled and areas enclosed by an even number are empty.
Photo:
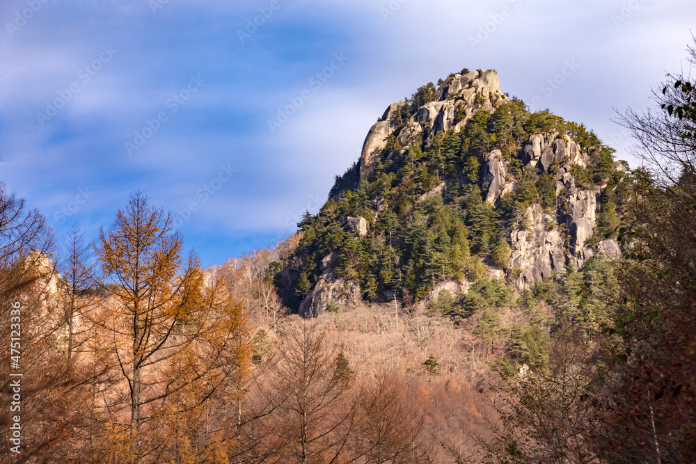
[[[97,237],[56,239],[0,184],[0,461],[696,461],[696,81],[617,115],[633,169],[518,97],[396,135],[467,75],[404,99],[295,234],[212,269],[141,191]],[[521,161],[536,134],[586,162]],[[511,186],[493,200],[492,152]],[[570,189],[596,194],[582,243]],[[534,230],[567,259],[528,283],[513,253]]]

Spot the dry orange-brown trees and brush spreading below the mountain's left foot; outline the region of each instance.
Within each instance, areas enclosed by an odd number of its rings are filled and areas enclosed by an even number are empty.
[[[3,316],[9,303],[22,304],[24,374],[22,453],[4,448],[3,461],[480,456],[478,440],[495,417],[484,393],[494,377],[471,326],[390,305],[313,321],[288,315],[266,274],[297,237],[204,272],[195,255],[181,256],[170,216],[138,194],[102,231],[94,256],[72,230],[59,275],[40,215],[13,198],[4,205],[33,238],[3,263]],[[432,369],[423,364],[429,357]],[[7,439],[6,410],[1,420]]]

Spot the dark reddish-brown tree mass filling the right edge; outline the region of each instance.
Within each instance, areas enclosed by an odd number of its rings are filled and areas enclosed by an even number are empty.
[[[599,294],[595,262],[583,270],[590,280],[566,278],[565,287],[576,287],[566,304],[580,316],[572,318],[576,339],[558,345],[553,335],[548,367],[508,391],[509,434],[499,449],[507,461],[695,459],[696,82],[670,76],[661,88],[663,111],[629,110],[620,120],[642,161],[628,179],[635,195],[622,204],[626,227],[603,225],[624,259]]]

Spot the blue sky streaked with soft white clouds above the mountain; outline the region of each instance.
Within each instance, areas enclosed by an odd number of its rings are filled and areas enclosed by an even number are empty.
[[[0,180],[58,237],[141,190],[224,262],[293,232],[388,104],[463,67],[628,159],[614,109],[686,69],[690,3],[3,0]]]

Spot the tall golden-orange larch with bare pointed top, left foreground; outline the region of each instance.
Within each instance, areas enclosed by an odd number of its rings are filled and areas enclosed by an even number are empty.
[[[179,462],[190,452],[179,445],[196,449],[202,438],[180,437],[166,424],[219,397],[247,369],[242,307],[205,278],[196,255],[182,259],[171,214],[139,192],[117,212],[111,230],[100,230],[96,252],[116,284],[104,328],[124,378],[120,390],[127,392],[115,421],[130,431],[125,455],[134,460],[157,450],[150,460]]]

